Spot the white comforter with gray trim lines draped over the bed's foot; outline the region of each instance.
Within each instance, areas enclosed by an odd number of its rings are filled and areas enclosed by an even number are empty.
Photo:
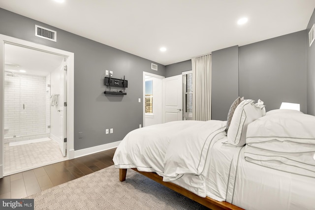
[[[225,126],[226,121],[185,120],[133,130],[126,135],[114,154],[115,167],[156,172],[164,181],[179,180],[185,175],[186,180],[183,180],[189,182],[204,172],[211,148],[226,136]],[[202,182],[199,187],[205,188]],[[206,196],[206,189],[189,190]]]

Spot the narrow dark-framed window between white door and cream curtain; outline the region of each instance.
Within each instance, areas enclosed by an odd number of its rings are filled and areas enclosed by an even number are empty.
[[[192,120],[192,71],[183,72],[184,120]]]

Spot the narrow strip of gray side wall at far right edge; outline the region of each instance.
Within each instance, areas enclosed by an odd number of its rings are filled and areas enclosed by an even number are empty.
[[[309,45],[309,31],[315,24],[315,12],[306,29],[306,52],[307,52],[307,113],[315,115],[315,42]]]

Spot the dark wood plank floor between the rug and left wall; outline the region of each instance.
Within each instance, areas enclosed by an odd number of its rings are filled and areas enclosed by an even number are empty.
[[[0,199],[24,198],[114,165],[115,149],[66,160],[0,179]]]

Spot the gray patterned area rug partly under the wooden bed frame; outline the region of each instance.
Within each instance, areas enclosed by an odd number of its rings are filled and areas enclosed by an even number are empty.
[[[121,182],[114,166],[27,198],[35,210],[209,210],[133,170]]]

